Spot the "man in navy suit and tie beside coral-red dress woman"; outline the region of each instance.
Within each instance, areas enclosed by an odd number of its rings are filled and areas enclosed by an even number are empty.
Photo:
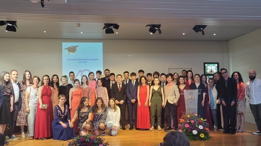
[[[130,74],[131,81],[127,84],[127,105],[128,105],[128,121],[130,124],[129,130],[133,129],[133,109],[134,109],[134,115],[135,115],[135,129],[137,128],[137,91],[138,91],[138,85],[139,82],[136,78],[136,73]]]

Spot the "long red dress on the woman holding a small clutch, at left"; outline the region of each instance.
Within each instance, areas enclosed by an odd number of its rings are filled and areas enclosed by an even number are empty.
[[[39,137],[52,137],[52,121],[54,118],[51,96],[51,87],[43,86],[42,103],[47,104],[47,109],[40,109],[40,104],[38,102],[34,128],[34,139],[37,139]]]

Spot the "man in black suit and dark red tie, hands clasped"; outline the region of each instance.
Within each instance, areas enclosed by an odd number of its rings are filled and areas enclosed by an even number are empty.
[[[122,75],[117,75],[117,83],[112,84],[111,98],[115,99],[117,106],[120,107],[120,122],[122,130],[125,128],[125,111],[126,111],[126,85],[121,83]]]

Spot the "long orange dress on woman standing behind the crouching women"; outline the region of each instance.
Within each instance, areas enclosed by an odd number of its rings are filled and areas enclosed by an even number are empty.
[[[79,103],[80,103],[82,97],[83,97],[83,94],[82,94],[81,88],[78,88],[76,91],[72,92],[72,95],[71,95],[71,109],[72,109],[71,110],[71,120],[74,117],[75,111],[76,111],[77,107],[79,106]],[[77,120],[78,120],[78,118],[76,118],[74,123],[73,123],[74,124],[74,132],[78,132]]]

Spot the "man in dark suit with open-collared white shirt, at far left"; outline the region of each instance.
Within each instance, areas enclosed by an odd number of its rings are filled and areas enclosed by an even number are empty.
[[[17,81],[18,78],[18,72],[16,70],[12,70],[10,72],[10,77],[11,77],[11,81],[12,81],[12,86],[13,86],[13,111],[11,112],[11,124],[9,124],[9,128],[10,128],[10,133],[9,135],[7,135],[7,127],[5,129],[5,136],[9,136],[9,138],[11,140],[18,140],[19,137],[16,137],[14,135],[14,128],[15,128],[15,123],[16,123],[16,117],[17,117],[17,112],[19,111],[19,109],[21,108],[21,103],[22,103],[22,95],[21,95],[21,89],[20,89],[20,83]],[[2,117],[1,117],[2,118]]]

